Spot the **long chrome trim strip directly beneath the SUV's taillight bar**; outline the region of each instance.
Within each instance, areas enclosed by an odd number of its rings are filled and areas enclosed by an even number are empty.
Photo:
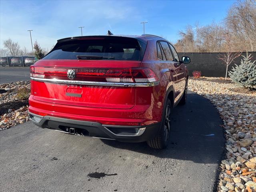
[[[90,82],[90,81],[76,81],[76,80],[59,80],[59,79],[42,79],[30,77],[31,80],[39,82],[59,83],[59,84],[75,84],[75,85],[89,85],[89,86],[118,86],[118,87],[151,87],[159,84],[160,81],[148,83],[120,83],[120,82]]]

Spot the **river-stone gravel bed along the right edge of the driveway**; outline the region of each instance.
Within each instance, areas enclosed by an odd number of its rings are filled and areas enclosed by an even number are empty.
[[[218,191],[256,192],[256,92],[206,77],[190,78],[188,89],[208,98],[223,120],[226,160],[220,164]]]

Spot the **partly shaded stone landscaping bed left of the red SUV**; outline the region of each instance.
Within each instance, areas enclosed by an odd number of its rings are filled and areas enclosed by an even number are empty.
[[[29,81],[0,84],[0,130],[29,121],[29,90]]]

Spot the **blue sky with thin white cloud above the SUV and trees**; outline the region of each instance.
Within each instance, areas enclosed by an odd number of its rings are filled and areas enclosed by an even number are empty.
[[[11,38],[31,49],[32,41],[50,49],[56,40],[70,36],[145,33],[171,42],[187,24],[222,22],[233,0],[205,1],[0,1],[0,47]]]

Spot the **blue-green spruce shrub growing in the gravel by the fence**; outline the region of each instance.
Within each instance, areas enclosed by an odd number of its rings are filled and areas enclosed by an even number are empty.
[[[256,86],[256,64],[252,62],[251,54],[241,60],[241,64],[233,67],[228,73],[231,80],[237,84],[242,85],[244,88],[252,88]]]

